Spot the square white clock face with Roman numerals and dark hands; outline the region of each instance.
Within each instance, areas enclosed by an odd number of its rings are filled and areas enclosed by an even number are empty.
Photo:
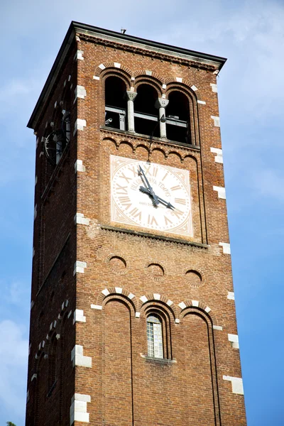
[[[111,155],[111,221],[192,236],[189,171]]]

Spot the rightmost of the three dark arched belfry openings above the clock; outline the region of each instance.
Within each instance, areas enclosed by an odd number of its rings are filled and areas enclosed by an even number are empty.
[[[191,144],[190,105],[182,92],[174,91],[169,94],[166,111],[167,138]]]

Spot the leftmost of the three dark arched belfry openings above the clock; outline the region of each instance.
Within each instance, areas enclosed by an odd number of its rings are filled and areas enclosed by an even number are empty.
[[[113,129],[126,129],[126,84],[116,76],[105,82],[105,124]]]

